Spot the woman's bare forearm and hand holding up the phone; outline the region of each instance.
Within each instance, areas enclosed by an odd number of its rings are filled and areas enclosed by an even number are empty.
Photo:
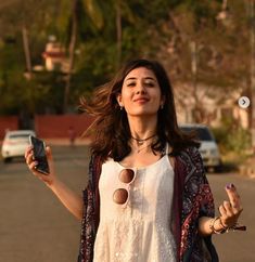
[[[55,194],[59,200],[65,206],[65,208],[74,214],[78,220],[82,219],[84,212],[84,202],[82,197],[69,189],[63,182],[61,182],[54,173],[53,168],[53,159],[51,149],[48,146],[47,150],[47,159],[49,162],[50,173],[43,174],[38,172],[35,167],[37,161],[34,160],[33,157],[33,147],[29,146],[25,152],[25,159],[29,170]]]

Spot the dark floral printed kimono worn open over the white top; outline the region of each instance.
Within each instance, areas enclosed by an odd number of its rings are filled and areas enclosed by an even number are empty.
[[[214,217],[214,199],[205,176],[201,155],[189,147],[175,157],[173,219],[169,221],[177,246],[178,262],[218,262],[212,236],[197,232],[201,217]],[[99,178],[102,162],[92,156],[89,181],[84,191],[85,211],[78,262],[93,261],[93,245],[100,221]]]

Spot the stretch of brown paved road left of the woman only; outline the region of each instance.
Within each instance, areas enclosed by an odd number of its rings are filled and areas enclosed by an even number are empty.
[[[81,192],[85,147],[53,148],[63,181]],[[74,262],[80,222],[69,214],[25,163],[0,163],[0,262]]]

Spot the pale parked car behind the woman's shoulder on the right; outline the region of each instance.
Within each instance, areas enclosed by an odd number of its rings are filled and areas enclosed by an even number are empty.
[[[180,125],[180,129],[184,132],[194,131],[196,133],[197,140],[201,143],[199,150],[204,167],[209,171],[220,171],[221,157],[211,129],[205,125],[197,123]]]

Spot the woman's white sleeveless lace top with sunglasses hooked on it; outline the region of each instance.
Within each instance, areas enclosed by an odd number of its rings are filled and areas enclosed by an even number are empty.
[[[175,262],[170,232],[174,170],[167,155],[144,168],[133,169],[128,186],[118,179],[124,169],[110,159],[99,181],[100,224],[94,262]],[[129,191],[126,207],[113,201],[115,189]]]

